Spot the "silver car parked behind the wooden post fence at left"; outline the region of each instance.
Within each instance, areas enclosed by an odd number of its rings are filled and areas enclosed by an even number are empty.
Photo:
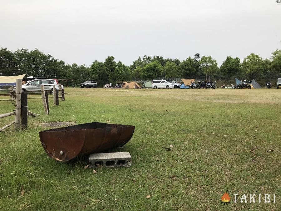
[[[41,91],[40,85],[44,85],[45,91],[53,91],[53,85],[56,85],[56,89],[59,89],[59,85],[57,85],[56,79],[35,79],[28,83],[22,84],[22,92],[29,92],[29,91]],[[63,88],[63,85],[62,85]],[[13,92],[16,91],[16,87],[13,88]]]

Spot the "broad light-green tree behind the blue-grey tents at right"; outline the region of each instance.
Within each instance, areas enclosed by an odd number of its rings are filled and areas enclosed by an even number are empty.
[[[243,63],[241,64],[242,72],[249,78],[259,78],[263,76],[263,65],[263,58],[251,53],[249,56],[244,58]]]

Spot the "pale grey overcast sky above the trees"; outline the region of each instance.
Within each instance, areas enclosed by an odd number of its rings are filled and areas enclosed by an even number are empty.
[[[270,58],[281,48],[281,4],[275,0],[0,0],[0,47],[91,65],[114,56],[184,60],[250,53]]]

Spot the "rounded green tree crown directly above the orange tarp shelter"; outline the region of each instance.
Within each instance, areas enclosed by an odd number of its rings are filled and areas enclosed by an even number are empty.
[[[199,73],[199,63],[196,59],[187,58],[179,66],[183,78],[192,78]]]

